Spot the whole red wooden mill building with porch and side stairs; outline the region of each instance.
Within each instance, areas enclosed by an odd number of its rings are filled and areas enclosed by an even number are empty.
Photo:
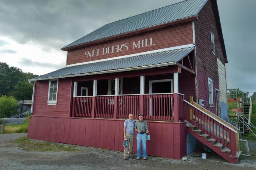
[[[238,129],[220,118],[227,56],[216,0],[109,23],[61,50],[66,67],[29,80],[28,137],[123,151],[124,119],[142,113],[147,155],[180,159],[199,140],[237,163]]]

